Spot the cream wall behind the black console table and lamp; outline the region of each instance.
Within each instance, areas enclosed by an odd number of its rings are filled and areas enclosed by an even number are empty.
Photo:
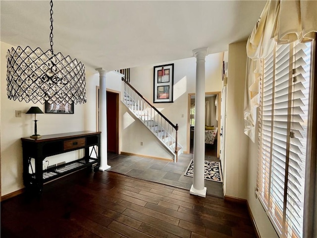
[[[9,100],[6,95],[6,52],[13,47],[1,42],[0,71],[0,128],[1,128],[1,196],[24,187],[22,180],[21,137],[34,134],[34,115],[25,113],[32,106],[38,106],[45,112],[44,105]],[[117,76],[118,80],[113,80]],[[121,75],[114,72],[107,74],[107,84],[116,90],[120,87]],[[74,105],[74,114],[40,114],[37,116],[38,133],[56,134],[81,130],[96,130],[96,86],[99,85],[98,72],[86,71],[87,103]],[[22,117],[15,117],[15,110],[22,111]],[[83,156],[83,151],[48,157],[51,164],[71,161]]]

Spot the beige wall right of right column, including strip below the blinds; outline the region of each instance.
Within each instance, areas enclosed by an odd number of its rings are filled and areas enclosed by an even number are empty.
[[[262,205],[255,197],[258,142],[252,143],[243,132],[245,68],[246,42],[230,44],[228,51],[225,195],[247,199],[261,237],[277,238]]]

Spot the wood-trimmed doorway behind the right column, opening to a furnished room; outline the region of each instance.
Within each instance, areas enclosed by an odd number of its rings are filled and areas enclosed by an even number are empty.
[[[213,141],[207,140],[205,143],[205,154],[219,158],[220,140],[220,92],[205,93],[205,125],[207,129],[213,132],[216,129]],[[193,153],[194,146],[194,131],[195,131],[195,93],[188,94],[188,126],[187,126],[187,150],[188,153]],[[213,126],[213,129],[212,129]],[[206,128],[205,128],[206,131]]]

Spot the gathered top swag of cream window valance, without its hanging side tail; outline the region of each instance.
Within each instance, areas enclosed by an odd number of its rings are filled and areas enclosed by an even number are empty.
[[[317,32],[316,0],[268,0],[248,42],[247,55],[263,59],[277,44],[315,39]]]

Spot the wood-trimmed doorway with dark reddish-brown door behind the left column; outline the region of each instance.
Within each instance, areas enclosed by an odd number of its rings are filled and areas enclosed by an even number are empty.
[[[107,152],[119,154],[119,92],[106,90]],[[96,126],[99,131],[99,87],[96,92]]]

